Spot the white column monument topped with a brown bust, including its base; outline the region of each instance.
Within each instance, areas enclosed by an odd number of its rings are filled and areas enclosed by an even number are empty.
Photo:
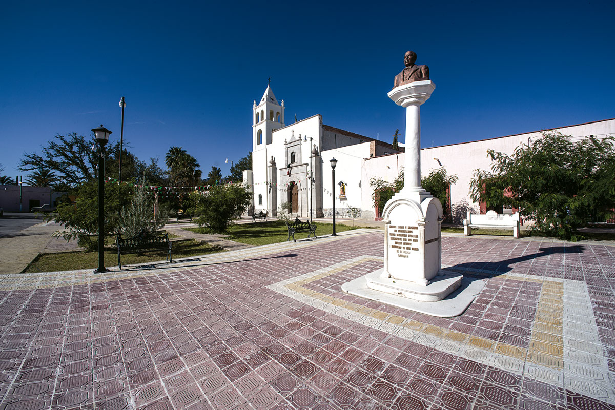
[[[408,64],[408,53],[407,68],[395,77],[395,85],[401,85],[388,94],[406,108],[406,152],[405,185],[383,210],[384,267],[345,283],[342,289],[404,309],[451,317],[466,310],[485,284],[464,280],[462,285],[461,274],[441,269],[442,204],[421,187],[420,107],[435,84],[429,80],[427,66],[414,65],[416,55]]]

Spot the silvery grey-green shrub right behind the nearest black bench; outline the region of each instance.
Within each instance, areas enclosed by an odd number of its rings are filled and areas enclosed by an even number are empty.
[[[154,215],[154,197],[143,184],[135,187],[130,205],[120,212],[119,231],[126,237],[155,235],[168,220],[161,212]]]

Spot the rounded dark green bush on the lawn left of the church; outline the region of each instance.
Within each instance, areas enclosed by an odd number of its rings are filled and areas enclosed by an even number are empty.
[[[207,226],[216,234],[228,232],[233,218],[245,212],[251,194],[245,184],[212,185],[207,192],[192,192],[189,213],[197,216],[200,227]]]

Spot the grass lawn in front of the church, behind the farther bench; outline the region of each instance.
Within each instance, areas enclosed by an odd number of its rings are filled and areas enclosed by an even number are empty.
[[[335,232],[352,231],[359,229],[359,226],[352,227],[342,224],[335,224]],[[197,234],[208,234],[207,228],[189,228],[189,231]],[[333,224],[316,223],[316,235],[329,236],[333,233]],[[297,232],[295,239],[308,237],[309,232]],[[286,242],[288,230],[282,221],[253,222],[250,224],[237,224],[229,229],[228,239],[235,242],[248,243],[248,245],[269,245],[270,243]],[[293,240],[291,237],[290,240]]]

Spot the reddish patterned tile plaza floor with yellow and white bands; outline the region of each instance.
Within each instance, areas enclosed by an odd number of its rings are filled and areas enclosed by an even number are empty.
[[[615,246],[445,237],[434,318],[341,292],[383,240],[0,275],[0,408],[615,409]]]

